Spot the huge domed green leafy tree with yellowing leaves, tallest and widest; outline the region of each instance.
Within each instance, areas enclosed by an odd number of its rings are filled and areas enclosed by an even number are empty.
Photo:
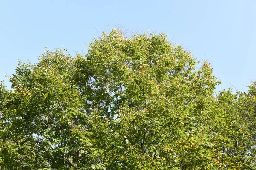
[[[236,95],[214,97],[209,63],[166,34],[112,30],[89,46],[46,50],[1,84],[3,169],[254,168]]]

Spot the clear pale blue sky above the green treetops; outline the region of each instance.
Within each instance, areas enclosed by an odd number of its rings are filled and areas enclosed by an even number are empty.
[[[94,36],[118,26],[168,34],[211,62],[218,90],[247,91],[256,80],[256,0],[0,0],[0,80],[10,85],[4,74],[17,59],[37,62],[44,47],[62,45],[86,52]]]

